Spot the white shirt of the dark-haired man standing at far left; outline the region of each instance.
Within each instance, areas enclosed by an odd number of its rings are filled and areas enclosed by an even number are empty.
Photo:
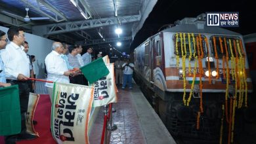
[[[11,42],[1,52],[1,58],[5,65],[6,79],[17,80],[18,74],[30,77],[30,60],[23,46]]]

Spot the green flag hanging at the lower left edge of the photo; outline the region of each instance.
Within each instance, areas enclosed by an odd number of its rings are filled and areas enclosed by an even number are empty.
[[[18,134],[20,130],[18,85],[0,88],[0,135]]]

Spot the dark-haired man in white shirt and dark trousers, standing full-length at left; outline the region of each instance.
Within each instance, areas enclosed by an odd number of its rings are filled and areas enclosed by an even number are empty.
[[[5,63],[5,77],[12,85],[18,84],[20,97],[20,113],[22,116],[21,132],[18,135],[5,137],[6,143],[20,141],[22,139],[34,139],[36,136],[26,133],[26,112],[28,110],[28,99],[30,88],[28,77],[30,77],[30,60],[28,59],[22,43],[25,41],[24,30],[20,27],[10,27],[8,38],[11,41],[6,49],[1,52],[1,58]]]

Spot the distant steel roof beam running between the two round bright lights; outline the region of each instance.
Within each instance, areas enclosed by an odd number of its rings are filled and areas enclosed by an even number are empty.
[[[132,37],[122,37],[122,38],[110,38],[110,39],[95,39],[93,41],[85,41],[85,46],[87,45],[99,45],[104,43],[116,43],[116,41],[129,41]],[[77,42],[79,43],[79,42]]]

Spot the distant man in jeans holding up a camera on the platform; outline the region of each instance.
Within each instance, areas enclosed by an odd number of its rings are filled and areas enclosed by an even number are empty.
[[[123,63],[122,65],[123,68],[123,86],[122,89],[125,89],[125,85],[128,81],[128,86],[129,89],[133,89],[132,85],[132,79],[133,79],[133,69],[134,69],[134,64],[130,62],[129,59],[127,59],[127,62]]]

